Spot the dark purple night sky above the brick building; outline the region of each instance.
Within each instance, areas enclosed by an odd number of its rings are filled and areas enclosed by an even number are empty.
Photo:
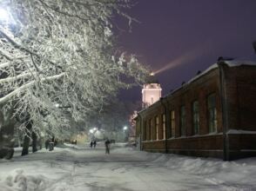
[[[118,48],[153,71],[172,66],[156,75],[163,95],[219,56],[256,60],[256,0],[138,0],[125,11],[140,23],[132,23],[129,32],[127,20],[118,17]],[[120,96],[141,100],[141,89]]]

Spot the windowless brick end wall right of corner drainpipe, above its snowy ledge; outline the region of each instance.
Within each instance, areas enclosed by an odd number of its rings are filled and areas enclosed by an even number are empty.
[[[226,67],[229,127],[256,131],[255,66]]]

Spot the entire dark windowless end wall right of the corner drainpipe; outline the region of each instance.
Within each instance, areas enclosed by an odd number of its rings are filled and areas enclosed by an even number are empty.
[[[255,66],[225,67],[230,160],[256,155]]]

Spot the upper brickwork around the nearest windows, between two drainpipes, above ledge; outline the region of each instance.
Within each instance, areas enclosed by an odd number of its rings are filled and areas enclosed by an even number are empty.
[[[186,113],[186,136],[193,135],[192,127],[192,102],[199,101],[199,135],[205,135],[209,133],[208,129],[208,116],[207,116],[207,96],[211,93],[216,94],[217,104],[217,132],[222,132],[222,111],[219,95],[219,70],[213,69],[205,76],[199,77],[191,84],[185,86],[183,89],[179,89],[174,92],[167,99],[169,102],[168,109],[175,110],[176,115],[176,135],[180,136],[180,107],[185,105]]]

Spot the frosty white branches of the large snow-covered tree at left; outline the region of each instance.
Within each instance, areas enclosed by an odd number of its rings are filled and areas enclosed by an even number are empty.
[[[111,16],[126,16],[125,7],[129,0],[1,0],[3,114],[14,109],[19,122],[57,134],[142,82],[147,69],[113,44]]]

